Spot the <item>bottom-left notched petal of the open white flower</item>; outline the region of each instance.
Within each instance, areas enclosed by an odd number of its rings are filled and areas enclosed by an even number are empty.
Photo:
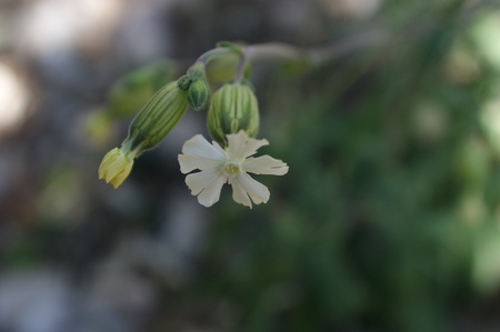
[[[198,202],[207,208],[219,201],[226,181],[227,178],[219,169],[209,169],[186,177],[186,184],[191,194],[198,195]]]

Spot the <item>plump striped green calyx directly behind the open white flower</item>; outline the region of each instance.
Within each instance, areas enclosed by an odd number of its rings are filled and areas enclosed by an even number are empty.
[[[208,112],[208,129],[220,144],[224,143],[227,134],[240,130],[256,137],[259,131],[259,105],[250,87],[227,83],[217,90]]]

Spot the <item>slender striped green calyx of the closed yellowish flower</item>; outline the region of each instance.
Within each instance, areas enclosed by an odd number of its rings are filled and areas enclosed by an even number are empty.
[[[129,135],[122,145],[140,152],[154,148],[176,125],[187,108],[187,91],[180,89],[176,81],[168,83],[151,97],[132,120]]]

